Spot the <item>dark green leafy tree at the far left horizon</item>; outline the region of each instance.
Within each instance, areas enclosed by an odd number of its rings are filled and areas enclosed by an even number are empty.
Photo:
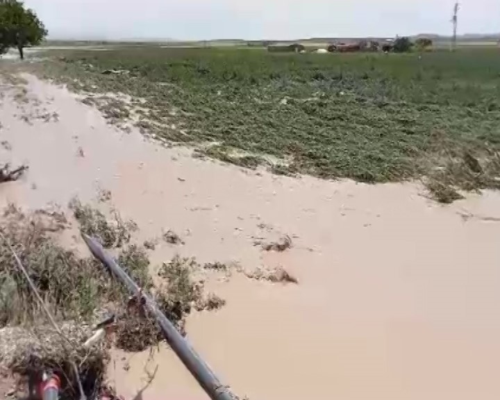
[[[24,47],[36,46],[47,36],[47,29],[22,1],[0,0],[0,49],[15,47],[24,59]]]

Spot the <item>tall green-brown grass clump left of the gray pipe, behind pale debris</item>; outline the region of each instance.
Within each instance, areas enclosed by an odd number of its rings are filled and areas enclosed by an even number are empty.
[[[42,215],[24,215],[10,208],[3,216],[1,230],[57,317],[88,318],[110,292],[109,278],[97,261],[78,258],[74,252],[60,247]],[[0,324],[35,322],[42,315],[40,306],[3,240],[0,263],[1,292],[5,294]]]

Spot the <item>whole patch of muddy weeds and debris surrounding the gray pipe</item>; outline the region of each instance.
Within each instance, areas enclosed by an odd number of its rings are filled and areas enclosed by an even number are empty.
[[[213,295],[207,295],[203,284],[192,276],[193,268],[199,267],[194,260],[176,257],[165,263],[160,267],[162,284],[155,287],[146,249],[131,243],[135,224],[122,220],[116,213],[108,218],[79,201],[72,201],[70,206],[81,232],[91,233],[112,251],[119,265],[144,293],[156,300],[178,331],[185,334],[185,318],[193,308],[217,308],[213,306]],[[74,360],[85,394],[94,398],[104,385],[110,346],[106,340],[91,348],[84,347],[94,324],[114,314],[113,342],[115,347],[126,351],[155,346],[163,340],[163,335],[153,316],[131,306],[133,299],[126,289],[98,260],[82,258],[58,243],[58,233],[67,228],[67,216],[58,211],[23,213],[9,206],[2,215],[0,367],[22,375],[34,369],[58,372],[65,377],[61,398],[73,399],[77,385],[68,360]],[[49,325],[10,247],[19,256],[67,342]],[[223,305],[222,301],[219,306]]]

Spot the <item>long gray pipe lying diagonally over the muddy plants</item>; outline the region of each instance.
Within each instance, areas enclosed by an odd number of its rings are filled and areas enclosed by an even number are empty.
[[[124,272],[122,267],[120,267],[112,257],[106,253],[101,244],[90,238],[88,235],[82,234],[83,240],[87,243],[92,254],[110,269],[110,271],[122,281],[126,288],[133,294],[140,294],[140,289],[138,285],[131,279],[130,276]],[[175,326],[170,322],[167,317],[158,309],[156,302],[153,301],[147,294],[142,293],[144,298],[145,306],[148,310],[156,317],[158,324],[160,324],[163,335],[167,340],[172,350],[175,351],[178,358],[184,363],[185,367],[189,369],[192,376],[198,381],[198,383],[203,387],[203,390],[210,396],[212,400],[234,400],[236,397],[231,394],[228,387],[223,386],[217,376],[212,372],[210,367],[201,360],[197,352],[191,347],[188,340],[183,338],[181,333],[178,333]]]

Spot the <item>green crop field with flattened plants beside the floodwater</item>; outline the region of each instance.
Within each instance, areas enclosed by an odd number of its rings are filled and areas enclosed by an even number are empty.
[[[140,126],[232,163],[370,183],[422,178],[443,202],[460,197],[456,190],[500,188],[499,49],[131,47],[53,56],[53,76],[142,98]]]

